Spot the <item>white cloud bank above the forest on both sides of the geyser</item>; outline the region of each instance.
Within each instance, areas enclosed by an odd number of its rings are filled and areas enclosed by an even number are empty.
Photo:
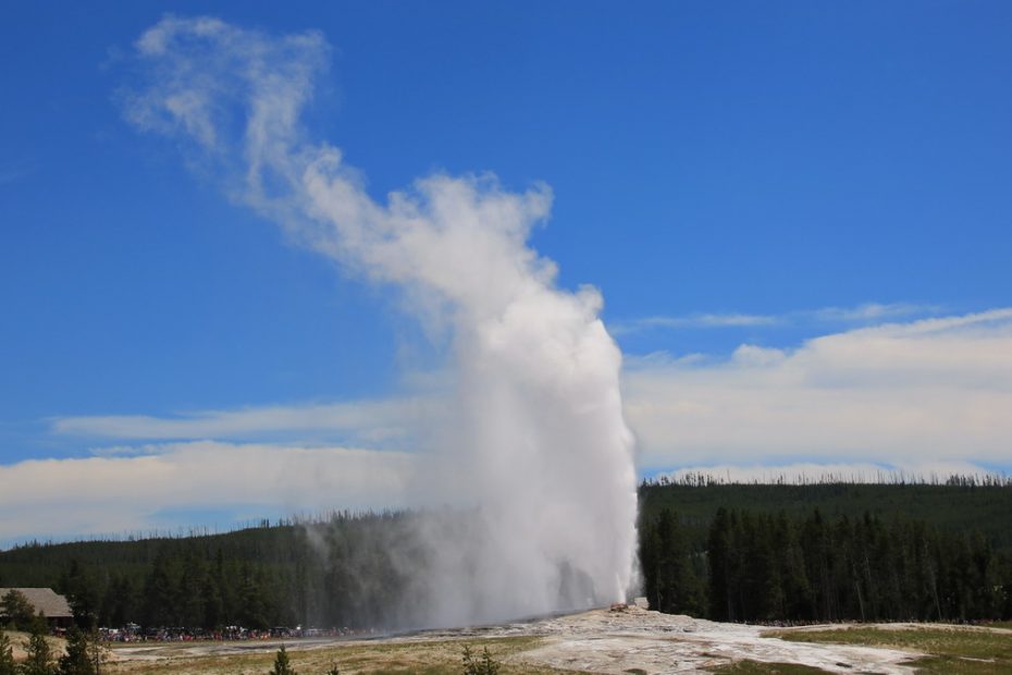
[[[1012,471],[1012,308],[885,323],[790,349],[655,354],[627,359],[622,377],[641,475],[875,480]],[[161,512],[181,507],[259,517],[410,505],[402,489],[417,455],[405,420],[439,409],[421,392],[171,418],[53,419],[51,433],[95,445],[95,456],[0,466],[0,506],[29,514],[9,520],[0,541],[150,529],[163,525]],[[356,450],[310,442],[331,432],[374,440]],[[258,441],[264,434],[281,441]],[[254,466],[262,475],[235,470]],[[272,482],[274,474],[287,482]],[[322,490],[321,480],[333,488]]]

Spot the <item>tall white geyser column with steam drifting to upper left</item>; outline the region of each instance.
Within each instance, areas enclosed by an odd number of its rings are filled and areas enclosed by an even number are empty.
[[[137,41],[126,119],[187,148],[229,197],[346,270],[393,285],[451,335],[455,398],[418,464],[419,494],[467,517],[420,518],[424,621],[493,621],[621,600],[634,584],[633,441],[621,354],[600,294],[555,287],[527,246],[552,194],[491,175],[417,180],[373,200],[300,113],[328,45],[214,19],[165,17]],[[335,495],[340,498],[340,495]]]

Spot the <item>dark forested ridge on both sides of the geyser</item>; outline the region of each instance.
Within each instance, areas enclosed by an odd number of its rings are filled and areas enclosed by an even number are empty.
[[[1012,484],[640,487],[655,609],[725,621],[1012,617]],[[423,615],[417,514],[334,514],[224,535],[22,545],[0,587],[48,586],[82,622],[403,628]]]

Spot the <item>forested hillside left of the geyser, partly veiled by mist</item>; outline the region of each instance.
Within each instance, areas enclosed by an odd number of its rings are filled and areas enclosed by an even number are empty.
[[[0,587],[52,587],[78,622],[103,626],[409,625],[412,587],[394,563],[410,517],[345,513],[225,535],[30,544],[0,553]]]

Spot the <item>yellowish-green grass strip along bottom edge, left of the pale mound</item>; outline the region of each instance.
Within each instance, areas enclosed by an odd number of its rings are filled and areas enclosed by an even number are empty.
[[[323,675],[337,667],[342,675],[355,673],[451,675],[462,672],[465,646],[480,655],[484,648],[493,659],[502,664],[502,675],[532,673],[550,675],[565,671],[536,668],[530,664],[511,663],[510,655],[533,649],[541,643],[540,638],[516,637],[481,640],[437,640],[437,641],[374,641],[349,642],[320,649],[298,649],[297,643],[288,647],[292,667],[299,675]],[[115,654],[118,650],[113,649]],[[157,660],[129,660],[110,662],[103,667],[109,674],[147,675],[168,673],[170,675],[266,675],[274,663],[274,652],[240,654],[172,654]]]

